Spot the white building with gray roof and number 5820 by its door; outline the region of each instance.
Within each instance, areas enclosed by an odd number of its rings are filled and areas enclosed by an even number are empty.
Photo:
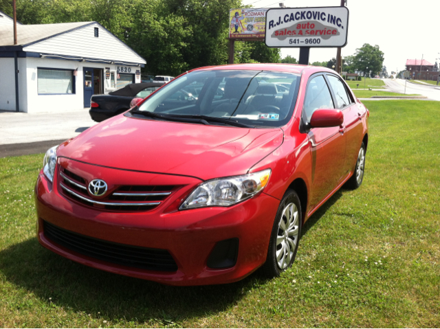
[[[18,45],[13,33],[0,23],[0,110],[83,109],[91,95],[140,82],[146,64],[96,22],[17,24]]]

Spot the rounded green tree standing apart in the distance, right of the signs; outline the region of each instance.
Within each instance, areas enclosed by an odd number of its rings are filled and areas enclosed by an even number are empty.
[[[378,45],[373,47],[369,43],[364,43],[361,48],[356,49],[353,65],[358,71],[364,72],[364,76],[367,76],[369,71],[373,76],[377,75],[382,70],[383,63],[384,53],[380,51]]]

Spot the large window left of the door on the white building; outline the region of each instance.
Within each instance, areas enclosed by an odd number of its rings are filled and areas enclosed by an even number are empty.
[[[75,93],[74,70],[37,69],[39,95]]]

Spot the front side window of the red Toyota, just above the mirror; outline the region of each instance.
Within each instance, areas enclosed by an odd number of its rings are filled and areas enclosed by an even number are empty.
[[[334,109],[333,100],[327,82],[323,76],[312,78],[307,84],[303,114],[306,122],[310,122],[311,115],[317,109]]]

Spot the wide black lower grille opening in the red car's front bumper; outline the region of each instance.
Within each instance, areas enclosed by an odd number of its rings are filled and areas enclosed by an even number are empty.
[[[122,245],[83,236],[43,221],[44,235],[69,250],[85,256],[151,271],[177,271],[177,264],[167,250]]]

